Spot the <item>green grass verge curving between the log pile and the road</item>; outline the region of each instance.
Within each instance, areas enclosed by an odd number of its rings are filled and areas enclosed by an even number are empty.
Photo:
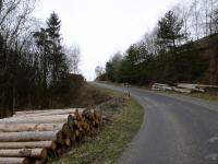
[[[124,94],[106,91],[107,94],[124,98],[125,105],[114,113],[99,134],[94,139],[73,148],[68,155],[52,164],[110,164],[116,163],[121,153],[128,148],[143,121],[143,107]]]

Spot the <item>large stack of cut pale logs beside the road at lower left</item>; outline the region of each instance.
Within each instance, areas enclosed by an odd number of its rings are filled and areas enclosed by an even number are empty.
[[[48,154],[61,154],[100,124],[101,116],[89,109],[17,112],[0,119],[0,164],[43,163]]]

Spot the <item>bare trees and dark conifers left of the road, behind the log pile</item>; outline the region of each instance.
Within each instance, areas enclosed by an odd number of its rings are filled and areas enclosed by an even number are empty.
[[[78,49],[62,45],[58,14],[41,24],[31,16],[34,7],[35,0],[0,0],[0,117],[68,106],[85,83],[75,74]]]

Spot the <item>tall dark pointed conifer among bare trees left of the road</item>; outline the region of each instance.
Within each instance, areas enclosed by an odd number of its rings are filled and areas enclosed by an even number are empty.
[[[61,45],[61,21],[57,13],[51,13],[47,21],[47,28],[41,28],[34,34],[36,45],[39,49],[39,77],[41,77],[41,95],[44,96],[44,104],[51,104],[55,97],[69,87],[68,75],[69,66],[66,55],[63,54]]]

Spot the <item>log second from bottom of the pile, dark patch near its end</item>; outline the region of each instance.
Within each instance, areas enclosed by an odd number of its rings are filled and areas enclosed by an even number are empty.
[[[47,157],[47,149],[14,149],[0,150],[0,157]]]

